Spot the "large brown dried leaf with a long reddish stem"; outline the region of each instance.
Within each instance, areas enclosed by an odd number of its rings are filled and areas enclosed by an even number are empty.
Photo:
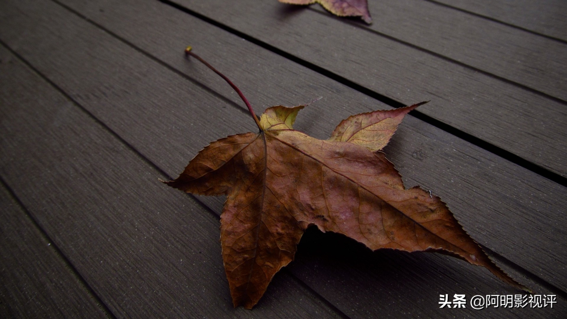
[[[189,48],[187,54],[204,62]],[[527,290],[490,261],[441,199],[420,187],[406,190],[380,152],[403,117],[424,102],[350,116],[328,140],[318,140],[293,129],[304,106],[270,107],[258,120],[240,90],[221,76],[243,98],[260,132],[211,142],[167,184],[193,194],[228,195],[221,245],[235,307],[257,303],[274,274],[293,260],[310,225],[372,250],[452,255]]]

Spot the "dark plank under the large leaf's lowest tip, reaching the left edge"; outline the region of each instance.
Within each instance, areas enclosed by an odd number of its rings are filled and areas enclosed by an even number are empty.
[[[3,47],[0,56],[11,65],[0,75],[0,174],[113,314],[337,317],[286,272],[254,312],[233,309],[217,217],[165,187],[159,171]],[[33,264],[45,274],[56,269],[46,269],[49,260]],[[52,290],[49,297],[60,296]],[[88,316],[86,306],[73,317]]]

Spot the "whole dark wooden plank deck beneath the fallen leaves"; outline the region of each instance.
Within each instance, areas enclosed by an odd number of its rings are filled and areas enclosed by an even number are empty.
[[[0,1],[0,317],[567,317],[567,5],[369,0],[374,23],[277,0]],[[372,252],[310,229],[253,310],[232,308],[224,198],[176,177],[256,112],[320,101],[327,138],[422,100],[385,152],[553,308],[439,309],[522,294],[440,254]]]

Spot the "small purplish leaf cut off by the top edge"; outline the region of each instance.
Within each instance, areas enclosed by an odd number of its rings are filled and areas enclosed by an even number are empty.
[[[332,14],[338,16],[360,16],[364,22],[372,23],[367,0],[278,0],[291,5],[311,5],[318,2]]]

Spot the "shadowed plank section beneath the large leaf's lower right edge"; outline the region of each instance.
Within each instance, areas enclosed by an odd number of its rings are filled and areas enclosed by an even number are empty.
[[[563,318],[564,299],[553,309],[488,308],[440,309],[439,295],[509,295],[519,293],[501,283],[487,283],[488,272],[479,267],[459,267],[454,258],[439,254],[380,250],[371,253],[338,234],[314,230],[304,235],[296,262],[290,267],[311,287],[352,318]],[[315,278],[309,270],[318,272]],[[476,272],[480,270],[480,272]],[[518,274],[511,273],[518,278]],[[531,287],[537,286],[529,283]],[[538,292],[540,293],[540,292]],[[561,304],[560,304],[561,303]]]

